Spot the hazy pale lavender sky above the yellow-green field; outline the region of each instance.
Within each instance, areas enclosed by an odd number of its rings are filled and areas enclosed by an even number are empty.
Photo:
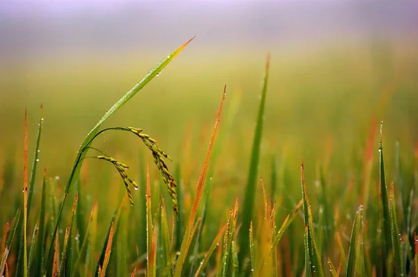
[[[173,48],[194,35],[246,47],[417,33],[418,1],[0,1],[0,59]]]

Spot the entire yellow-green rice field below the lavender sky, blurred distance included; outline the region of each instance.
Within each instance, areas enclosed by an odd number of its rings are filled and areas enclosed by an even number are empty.
[[[413,47],[192,45],[1,70],[0,276],[418,276]]]

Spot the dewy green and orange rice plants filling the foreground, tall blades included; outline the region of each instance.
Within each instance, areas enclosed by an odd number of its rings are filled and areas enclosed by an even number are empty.
[[[389,130],[383,132],[381,124],[375,143],[378,116],[374,115],[369,134],[364,136],[366,148],[354,154],[352,168],[341,169],[329,157],[318,157],[318,164],[293,163],[272,151],[265,145],[271,130],[263,122],[268,109],[270,55],[261,78],[255,128],[245,129],[244,139],[231,131],[239,121],[235,114],[239,97],[232,89],[227,92],[226,86],[214,92],[221,101],[217,113],[213,106],[210,115],[210,125],[214,123],[210,139],[202,136],[200,140],[203,149],[208,145],[203,164],[197,150],[179,146],[179,152],[188,153],[183,160],[171,159],[162,150],[173,136],[172,130],[162,129],[160,136],[169,139],[157,143],[136,127],[101,129],[109,116],[157,77],[190,41],[111,106],[82,141],[63,186],[47,168],[36,177],[46,127],[44,108],[40,108],[33,141],[28,131],[31,111],[25,112],[22,190],[0,190],[0,219],[4,221],[0,221],[4,229],[0,276],[418,276],[418,147],[408,150],[410,157],[403,157],[402,141],[397,144],[396,174],[387,179],[384,139]],[[152,131],[153,137],[158,129]],[[121,141],[134,134],[130,148],[136,147],[131,151],[140,153],[134,155],[137,164],[132,157],[98,143],[98,138],[112,130],[123,131],[117,132]],[[192,147],[194,133],[175,132],[181,143]],[[201,134],[206,134],[206,128]],[[242,140],[250,150],[249,157],[240,146],[233,152]],[[29,168],[28,145],[32,142],[35,151]],[[116,146],[123,148],[124,143]],[[378,164],[373,163],[373,152],[379,155]],[[231,166],[230,157],[249,164],[248,168]],[[103,176],[85,176],[93,163],[104,164]],[[301,166],[293,168],[294,164]],[[392,169],[393,163],[389,164]],[[199,176],[193,174],[196,168],[201,168]],[[230,184],[233,181],[225,177],[233,171],[240,177],[235,190]],[[268,181],[261,176],[265,172]],[[348,181],[331,177],[347,176],[347,172]],[[108,194],[107,202],[86,193],[91,179],[100,193]],[[6,195],[18,200],[6,205]],[[166,207],[167,199],[171,204]]]

